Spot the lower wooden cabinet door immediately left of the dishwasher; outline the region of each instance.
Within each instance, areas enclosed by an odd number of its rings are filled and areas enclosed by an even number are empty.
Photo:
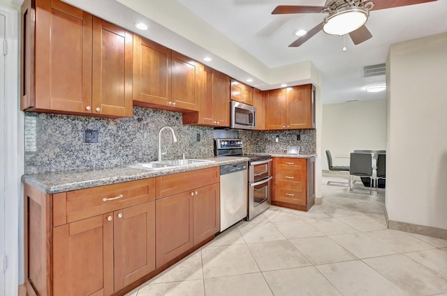
[[[214,236],[220,229],[219,183],[200,187],[193,191],[194,245]]]

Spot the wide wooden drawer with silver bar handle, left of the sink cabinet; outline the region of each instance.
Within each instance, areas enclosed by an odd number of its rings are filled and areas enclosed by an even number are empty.
[[[53,194],[53,226],[155,199],[155,178]]]

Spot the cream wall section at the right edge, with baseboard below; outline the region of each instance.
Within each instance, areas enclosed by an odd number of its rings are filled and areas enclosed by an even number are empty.
[[[390,46],[388,217],[447,228],[447,33]]]

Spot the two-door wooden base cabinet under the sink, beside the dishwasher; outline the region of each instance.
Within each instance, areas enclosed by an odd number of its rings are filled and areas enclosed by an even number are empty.
[[[156,268],[220,228],[219,167],[156,178]]]

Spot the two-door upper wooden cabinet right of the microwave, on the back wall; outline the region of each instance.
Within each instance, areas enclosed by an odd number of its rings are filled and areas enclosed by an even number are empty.
[[[265,100],[267,130],[315,128],[315,88],[312,84],[268,91]]]

